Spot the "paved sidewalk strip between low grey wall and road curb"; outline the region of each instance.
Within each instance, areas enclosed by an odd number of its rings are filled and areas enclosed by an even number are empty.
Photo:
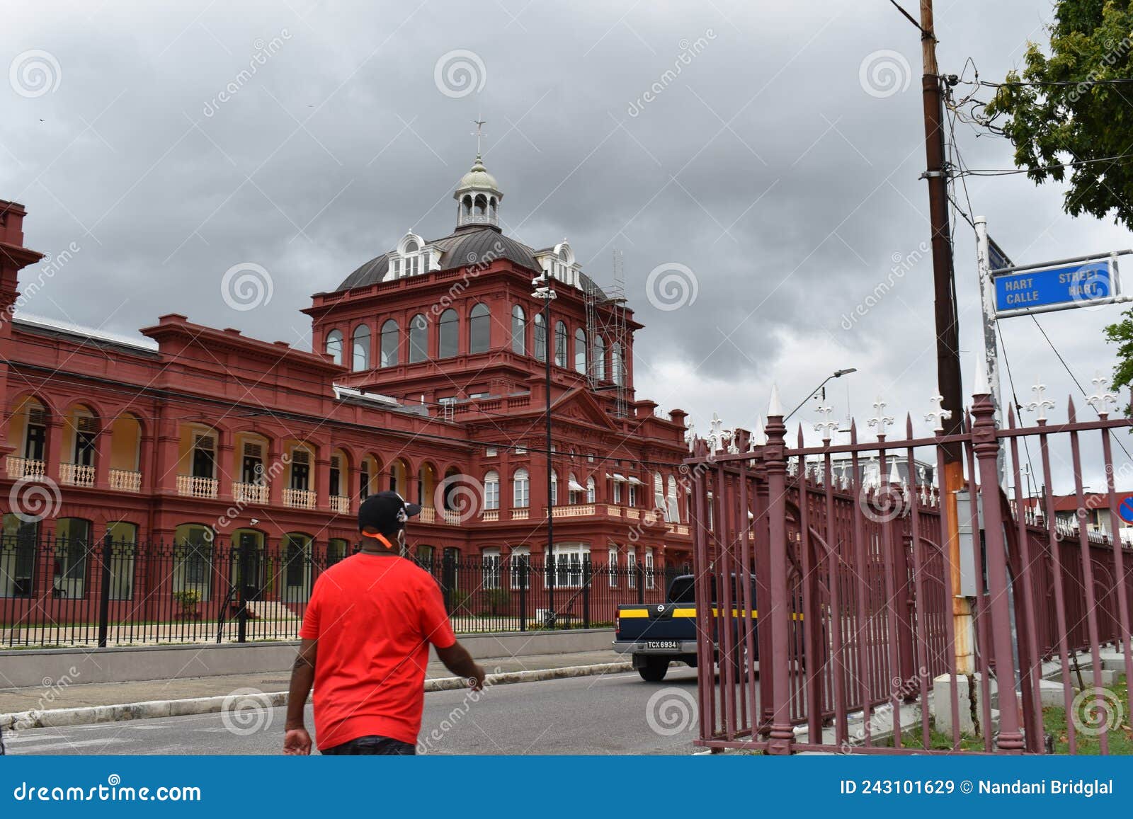
[[[539,672],[548,669],[571,669],[570,675],[581,673],[621,673],[630,669],[630,664],[613,651],[579,651],[572,654],[530,655],[526,657],[489,657],[478,659],[489,674],[508,675],[513,672]],[[594,667],[590,672],[583,672]],[[564,674],[565,675],[565,674]],[[522,675],[496,681],[525,682]],[[452,674],[436,659],[426,672],[427,680],[452,677]],[[546,677],[544,677],[546,679]],[[552,677],[553,679],[553,677]],[[261,674],[229,674],[223,676],[186,677],[174,680],[148,680],[128,683],[88,683],[66,686],[0,689],[0,715],[19,711],[43,711],[62,708],[91,708],[119,706],[131,702],[174,701],[206,697],[227,697],[233,691],[248,689],[265,694],[286,692],[290,683],[289,671],[272,671]],[[426,689],[428,690],[428,688]]]

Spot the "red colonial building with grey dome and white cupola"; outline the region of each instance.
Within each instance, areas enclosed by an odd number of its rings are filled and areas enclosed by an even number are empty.
[[[531,280],[543,270],[557,292],[556,553],[691,564],[678,471],[685,416],[634,396],[641,325],[565,240],[533,249],[503,234],[503,194],[479,157],[454,198],[451,233],[407,234],[313,297],[315,352],[177,314],[137,339],[24,315],[51,271],[24,247],[24,208],[0,202],[0,598],[49,586],[86,596],[82,544],[107,532],[340,556],[359,498],[386,488],[425,506],[408,529],[418,556],[540,555],[548,333]],[[51,566],[14,545],[45,535],[71,544]],[[281,582],[304,598],[310,563],[288,565],[299,569]],[[208,569],[182,569],[173,586]],[[144,580],[114,582],[117,600]]]

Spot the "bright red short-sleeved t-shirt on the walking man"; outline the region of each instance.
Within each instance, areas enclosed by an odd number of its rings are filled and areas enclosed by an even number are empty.
[[[429,643],[457,641],[428,572],[397,554],[347,557],[315,581],[299,637],[318,640],[321,749],[369,735],[417,743]]]

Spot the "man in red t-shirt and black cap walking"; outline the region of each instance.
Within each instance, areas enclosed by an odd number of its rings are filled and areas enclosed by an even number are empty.
[[[457,642],[433,577],[401,557],[420,506],[395,492],[358,507],[357,554],[323,572],[299,630],[283,752],[310,753],[303,711],[315,685],[315,735],[325,754],[414,754],[425,708],[429,643],[476,691],[484,668]]]

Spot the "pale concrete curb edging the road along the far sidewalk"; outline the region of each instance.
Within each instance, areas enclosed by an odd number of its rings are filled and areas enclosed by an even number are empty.
[[[535,671],[510,671],[488,674],[488,686],[509,685],[521,682],[563,680],[574,676],[597,676],[632,671],[632,663],[600,663],[597,665],[571,665],[562,668],[537,668]],[[425,691],[453,691],[466,688],[462,677],[437,677],[425,681]],[[287,691],[257,692],[238,689],[224,697],[195,697],[184,700],[151,700],[148,702],[126,702],[114,706],[85,706],[82,708],[54,708],[50,710],[16,711],[0,714],[0,728],[5,731],[27,731],[29,728],[63,728],[73,725],[95,725],[119,723],[130,719],[155,719],[160,717],[186,717],[194,714],[213,714],[239,706],[241,709],[256,702],[264,708],[287,705]]]

